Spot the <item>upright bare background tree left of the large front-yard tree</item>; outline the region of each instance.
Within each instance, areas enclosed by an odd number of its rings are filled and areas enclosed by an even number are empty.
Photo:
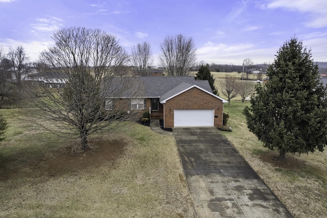
[[[12,70],[16,77],[17,88],[20,89],[23,73],[27,74],[29,57],[22,46],[17,46],[15,49],[9,49],[9,59],[12,64]]]

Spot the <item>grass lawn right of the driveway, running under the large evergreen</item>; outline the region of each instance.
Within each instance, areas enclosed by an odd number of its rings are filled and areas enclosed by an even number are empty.
[[[232,132],[222,132],[244,159],[265,181],[295,217],[326,217],[327,214],[327,152],[287,154],[286,161],[275,160],[278,151],[270,151],[249,132],[245,105],[239,99],[225,104],[229,114],[227,126]]]

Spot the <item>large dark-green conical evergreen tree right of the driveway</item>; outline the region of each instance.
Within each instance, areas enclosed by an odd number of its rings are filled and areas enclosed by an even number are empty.
[[[256,85],[243,112],[249,130],[264,147],[278,149],[279,160],[286,152],[323,151],[327,142],[326,88],[311,57],[297,38],[284,43],[268,67],[269,81]]]

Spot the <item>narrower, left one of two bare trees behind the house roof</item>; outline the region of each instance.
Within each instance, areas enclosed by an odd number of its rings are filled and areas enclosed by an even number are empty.
[[[151,45],[149,42],[137,43],[131,51],[131,63],[141,76],[148,75],[147,69],[153,63]]]

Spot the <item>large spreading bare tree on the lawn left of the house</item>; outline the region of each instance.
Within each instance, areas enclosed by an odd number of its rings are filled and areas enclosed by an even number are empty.
[[[37,64],[40,80],[48,85],[27,86],[29,100],[41,125],[46,123],[43,126],[52,133],[80,138],[85,150],[90,134],[128,116],[119,105],[106,110],[105,102],[111,104],[130,88],[128,80],[114,77],[129,55],[115,36],[99,29],[64,28],[52,38],[55,46],[43,51]]]

